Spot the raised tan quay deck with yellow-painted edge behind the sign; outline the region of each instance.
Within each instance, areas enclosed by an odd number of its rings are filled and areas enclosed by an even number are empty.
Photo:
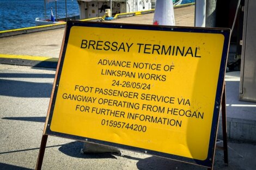
[[[194,25],[194,6],[176,8],[174,11],[177,26],[192,27]],[[105,22],[152,24],[153,17],[154,13],[149,13]],[[64,28],[54,28],[42,32],[0,38],[1,63],[11,64],[13,62],[16,65],[29,65],[26,62],[29,60],[31,66],[34,66],[32,61],[38,64],[42,61],[57,61],[55,58],[59,57],[64,30]],[[9,59],[13,60],[9,61]]]

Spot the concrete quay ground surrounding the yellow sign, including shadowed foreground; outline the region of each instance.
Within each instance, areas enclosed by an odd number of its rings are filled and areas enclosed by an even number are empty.
[[[177,26],[193,26],[194,6],[174,11]],[[151,24],[153,16],[106,22]],[[63,34],[57,28],[0,38],[0,169],[35,168]],[[214,168],[255,169],[256,104],[239,101],[240,72],[228,72],[225,80],[229,166],[217,149]],[[218,138],[221,129],[220,123]],[[42,169],[205,169],[127,150],[124,156],[82,155],[81,148],[82,142],[50,136]]]

